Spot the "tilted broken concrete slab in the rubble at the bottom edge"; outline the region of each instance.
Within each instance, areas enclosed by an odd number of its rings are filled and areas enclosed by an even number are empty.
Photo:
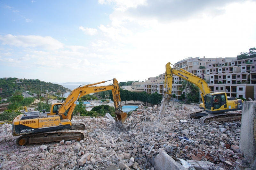
[[[187,170],[184,166],[172,159],[164,149],[161,148],[158,151],[159,154],[154,159],[157,170]]]

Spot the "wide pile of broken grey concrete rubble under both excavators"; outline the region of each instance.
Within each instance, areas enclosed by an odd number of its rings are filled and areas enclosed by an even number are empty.
[[[76,120],[87,125],[81,141],[19,147],[12,125],[5,123],[0,127],[0,169],[154,170],[160,148],[179,163],[208,161],[204,169],[234,169],[244,161],[239,121],[200,124],[187,115],[197,106],[176,106],[169,107],[159,122],[159,109],[140,105],[125,124],[106,117]]]

